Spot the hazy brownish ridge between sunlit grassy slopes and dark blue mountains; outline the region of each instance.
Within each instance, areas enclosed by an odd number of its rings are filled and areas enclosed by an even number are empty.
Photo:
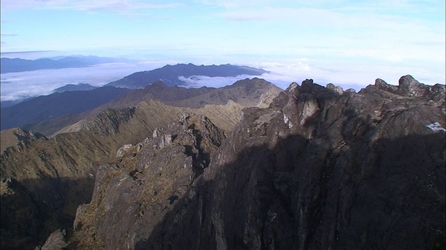
[[[205,108],[207,105],[226,105],[231,101],[241,108],[266,107],[282,89],[259,78],[245,79],[224,88],[183,88],[167,86],[161,81],[148,85],[144,90],[134,90],[116,97],[112,101],[97,106],[91,110],[76,115],[65,115],[56,119],[47,119],[37,124],[27,125],[24,128],[39,131],[44,135],[66,133],[67,126],[77,124],[81,120],[89,119],[113,108],[128,108],[141,106],[141,103],[160,101],[169,106],[178,108]],[[76,129],[75,129],[76,131]]]

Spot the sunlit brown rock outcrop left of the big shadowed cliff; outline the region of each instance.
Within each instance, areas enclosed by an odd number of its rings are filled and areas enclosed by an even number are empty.
[[[148,238],[178,200],[187,199],[223,138],[208,118],[184,115],[127,149],[116,163],[100,166],[92,202],[77,210],[72,246],[132,249]]]

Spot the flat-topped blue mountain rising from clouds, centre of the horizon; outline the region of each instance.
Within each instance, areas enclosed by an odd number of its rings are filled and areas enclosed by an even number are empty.
[[[268,73],[263,69],[256,69],[254,67],[237,66],[237,65],[193,65],[190,64],[178,64],[178,65],[166,65],[160,69],[153,69],[151,71],[137,72],[124,78],[108,83],[108,86],[138,89],[145,88],[146,85],[151,85],[156,81],[162,81],[166,85],[185,85],[183,81],[178,79],[179,76],[259,76],[261,74]]]

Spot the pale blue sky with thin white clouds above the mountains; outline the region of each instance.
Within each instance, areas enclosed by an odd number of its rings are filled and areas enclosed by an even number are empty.
[[[445,84],[443,0],[1,0],[0,7],[2,57],[141,60],[135,72],[164,63],[231,63],[269,70],[263,78],[281,88],[312,78],[359,90],[376,78],[397,85],[406,74]],[[99,85],[132,71],[124,68],[90,81],[82,71],[46,74],[59,85]],[[27,76],[16,82],[45,83]]]

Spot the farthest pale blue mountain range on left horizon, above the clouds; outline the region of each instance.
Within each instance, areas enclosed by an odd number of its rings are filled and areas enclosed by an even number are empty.
[[[98,56],[63,56],[56,58],[40,58],[26,60],[21,58],[1,58],[1,74],[26,72],[38,69],[63,69],[69,67],[89,67],[100,63],[119,63],[128,61],[121,58],[105,58]]]

